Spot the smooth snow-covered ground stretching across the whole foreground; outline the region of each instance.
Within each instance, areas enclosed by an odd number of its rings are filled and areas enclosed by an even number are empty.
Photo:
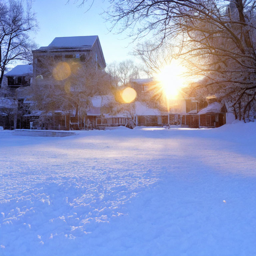
[[[256,124],[0,131],[0,255],[256,255]]]

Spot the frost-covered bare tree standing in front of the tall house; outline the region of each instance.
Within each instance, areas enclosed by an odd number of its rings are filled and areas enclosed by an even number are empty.
[[[91,98],[110,92],[108,74],[96,69],[91,58],[86,62],[58,61],[53,55],[37,58],[36,78],[31,87],[35,110],[51,113],[56,110],[85,117],[91,106]]]

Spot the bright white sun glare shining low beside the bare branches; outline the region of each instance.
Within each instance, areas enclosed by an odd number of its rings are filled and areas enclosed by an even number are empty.
[[[178,61],[172,61],[168,66],[165,66],[158,74],[161,90],[167,99],[176,98],[182,87],[186,85],[186,81],[182,76],[186,69],[180,65]]]

